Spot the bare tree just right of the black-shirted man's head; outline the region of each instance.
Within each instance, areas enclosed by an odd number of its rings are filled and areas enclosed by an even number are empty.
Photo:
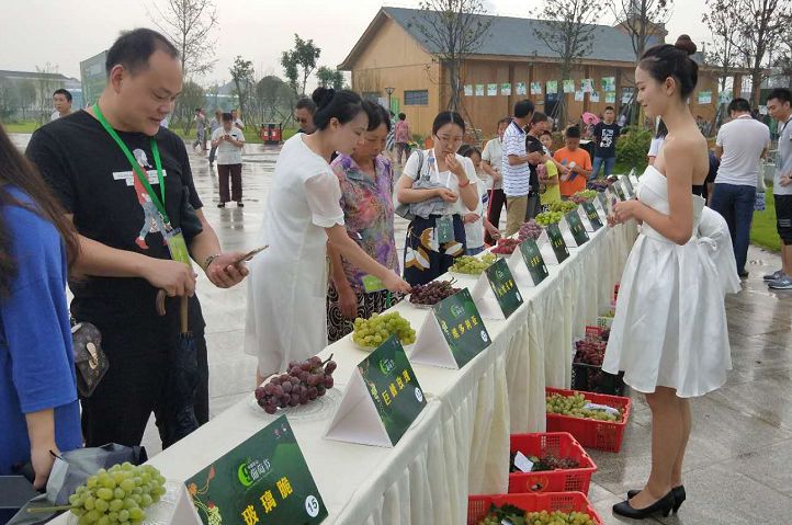
[[[184,78],[210,72],[217,61],[210,58],[216,44],[212,30],[217,25],[212,0],[166,0],[163,10],[156,3],[154,10],[156,14],[148,12],[148,18],[179,49]]]

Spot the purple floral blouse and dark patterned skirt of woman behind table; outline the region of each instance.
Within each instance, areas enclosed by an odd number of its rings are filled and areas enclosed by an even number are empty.
[[[341,208],[349,236],[380,264],[399,273],[398,252],[394,239],[393,167],[384,156],[374,160],[374,180],[361,170],[347,155],[340,155],[331,164],[341,185]],[[344,274],[358,296],[358,317],[369,318],[389,308],[398,297],[385,289],[366,292],[366,277],[351,263],[342,260]],[[338,307],[338,292],[332,281],[327,293],[327,339],[338,341],[352,332],[353,323],[343,317]]]

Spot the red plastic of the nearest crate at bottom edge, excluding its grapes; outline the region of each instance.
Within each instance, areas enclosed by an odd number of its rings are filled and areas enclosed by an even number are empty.
[[[514,505],[525,512],[563,511],[585,512],[597,525],[603,525],[602,518],[593,510],[588,499],[580,492],[547,492],[544,494],[498,494],[472,495],[467,498],[467,525],[477,525],[489,513],[493,504]]]

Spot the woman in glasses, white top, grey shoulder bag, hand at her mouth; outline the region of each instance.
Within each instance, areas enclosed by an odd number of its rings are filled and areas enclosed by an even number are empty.
[[[414,152],[396,187],[396,198],[414,216],[407,228],[405,279],[426,284],[448,272],[466,250],[462,217],[478,207],[478,176],[471,159],[456,150],[465,121],[444,111],[434,118],[434,147]]]

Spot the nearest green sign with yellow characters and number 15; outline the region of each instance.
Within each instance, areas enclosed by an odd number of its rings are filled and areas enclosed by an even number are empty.
[[[205,525],[313,525],[327,517],[285,415],[185,484]]]

